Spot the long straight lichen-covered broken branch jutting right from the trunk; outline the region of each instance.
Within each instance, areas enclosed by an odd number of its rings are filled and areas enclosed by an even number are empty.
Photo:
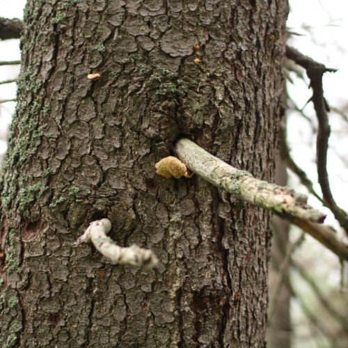
[[[306,196],[287,187],[255,179],[246,171],[236,169],[210,155],[189,139],[180,139],[175,145],[180,160],[187,167],[216,187],[252,205],[263,207],[280,216],[296,217],[322,223],[325,215],[306,204]]]

